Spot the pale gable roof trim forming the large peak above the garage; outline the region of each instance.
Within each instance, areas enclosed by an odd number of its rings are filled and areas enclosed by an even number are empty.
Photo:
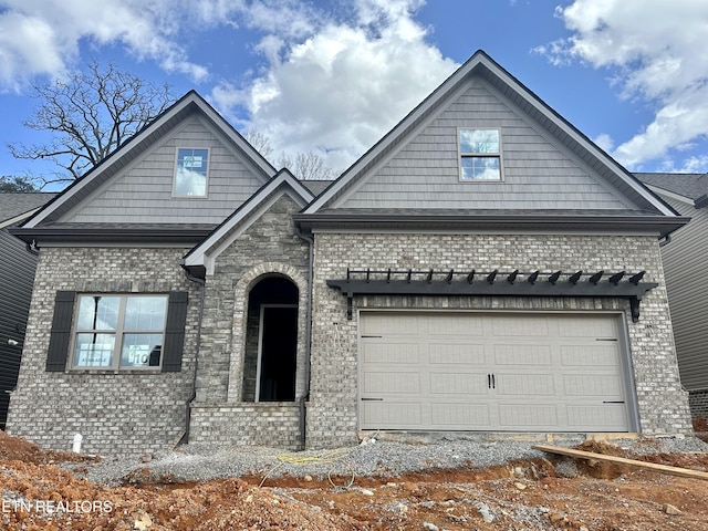
[[[604,153],[572,124],[542,102],[535,94],[502,69],[483,51],[477,51],[420,105],[399,122],[381,142],[364,154],[342,176],[322,192],[300,219],[319,212],[333,212],[341,207],[343,196],[366,179],[372,168],[399,148],[410,134],[429,122],[442,106],[459,93],[471,76],[483,79],[500,94],[544,127],[596,175],[605,179],[617,194],[637,206],[637,214],[676,217],[676,211],[643,186],[634,176]],[[342,212],[340,212],[342,214]],[[423,214],[423,212],[420,212]]]

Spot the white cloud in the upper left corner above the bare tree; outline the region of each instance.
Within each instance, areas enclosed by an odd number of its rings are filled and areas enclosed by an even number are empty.
[[[187,18],[204,27],[216,23],[216,12],[218,21],[226,22],[223,1],[212,2],[212,9],[207,3],[190,9],[187,0],[4,0],[0,4],[4,8],[0,11],[0,88],[18,90],[35,75],[61,75],[77,59],[82,42],[119,44],[168,72],[204,80],[207,70],[190,62],[178,42]]]

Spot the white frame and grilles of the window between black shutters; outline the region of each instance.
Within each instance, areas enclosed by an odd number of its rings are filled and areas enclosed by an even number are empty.
[[[116,323],[115,330],[80,330],[79,329],[79,311],[81,308],[81,298],[83,296],[118,296],[121,301],[118,303],[118,321]],[[162,330],[128,330],[126,331],[125,325],[125,309],[127,305],[127,300],[131,296],[160,296],[165,299],[165,324]],[[169,311],[169,296],[165,293],[76,293],[76,302],[74,304],[74,317],[71,327],[71,345],[70,345],[70,355],[69,357],[69,369],[85,372],[85,371],[154,371],[160,372],[163,367],[163,358],[164,358],[164,350],[165,350],[165,332],[167,326],[167,312]],[[111,365],[108,366],[98,366],[98,365],[75,365],[74,361],[76,357],[76,340],[79,334],[90,334],[90,333],[105,333],[115,335],[115,342],[113,346],[113,354],[111,357]],[[121,366],[121,357],[123,355],[123,336],[125,334],[163,334],[162,341],[162,351],[159,356],[159,364],[157,365],[147,365],[147,366]]]

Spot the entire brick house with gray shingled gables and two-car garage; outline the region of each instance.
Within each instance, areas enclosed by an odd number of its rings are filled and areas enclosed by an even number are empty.
[[[481,51],[322,191],[190,92],[13,230],[8,430],[688,433],[659,253],[687,221]]]

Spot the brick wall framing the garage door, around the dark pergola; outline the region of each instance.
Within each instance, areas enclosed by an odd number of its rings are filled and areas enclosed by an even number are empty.
[[[311,404],[308,444],[331,447],[356,441],[357,323],[346,320],[346,299],[325,284],[346,268],[470,271],[641,271],[659,287],[642,302],[633,323],[628,303],[613,299],[357,296],[364,308],[525,311],[622,311],[626,314],[641,430],[688,433],[658,244],[655,237],[514,235],[317,233],[313,280]]]

